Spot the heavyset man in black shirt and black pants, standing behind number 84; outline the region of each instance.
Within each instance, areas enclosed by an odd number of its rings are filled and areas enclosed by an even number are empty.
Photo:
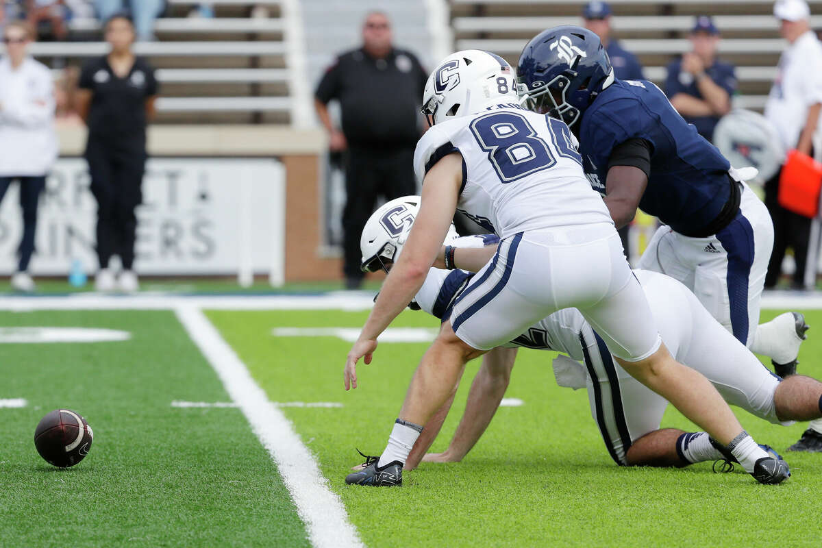
[[[359,238],[377,196],[393,200],[417,193],[413,152],[426,80],[417,58],[391,44],[386,14],[371,12],[363,23],[363,47],[339,55],[317,85],[316,113],[330,149],[347,151],[343,237],[349,289],[363,282]],[[326,108],[331,99],[339,101],[342,131]]]

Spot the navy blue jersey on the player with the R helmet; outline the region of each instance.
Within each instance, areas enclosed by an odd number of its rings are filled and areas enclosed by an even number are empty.
[[[731,196],[731,166],[649,81],[614,81],[582,117],[580,154],[595,190],[605,194],[612,150],[633,138],[652,147],[641,210],[679,233],[699,233],[716,219]]]

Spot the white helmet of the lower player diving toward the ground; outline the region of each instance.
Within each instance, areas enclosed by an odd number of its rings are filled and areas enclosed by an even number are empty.
[[[402,251],[411,232],[411,226],[419,213],[419,196],[403,196],[390,200],[372,213],[360,237],[363,272],[385,270],[392,265]],[[446,242],[459,237],[453,224],[448,229]]]

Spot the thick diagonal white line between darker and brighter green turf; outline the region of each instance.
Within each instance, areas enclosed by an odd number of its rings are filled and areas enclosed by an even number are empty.
[[[232,401],[238,404],[257,438],[277,463],[312,545],[317,548],[364,546],[349,522],[342,501],[328,488],[328,481],[320,473],[313,455],[214,325],[194,306],[180,306],[176,312]]]

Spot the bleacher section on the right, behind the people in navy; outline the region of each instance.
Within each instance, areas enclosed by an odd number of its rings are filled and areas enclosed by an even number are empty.
[[[455,48],[487,49],[515,63],[524,44],[540,30],[555,25],[580,25],[585,0],[451,0]],[[622,45],[642,62],[645,76],[658,84],[665,66],[688,51],[694,16],[710,15],[723,33],[719,52],[737,65],[740,95],[737,106],[761,110],[773,81],[784,42],[771,0],[727,0],[721,3],[680,0],[612,0],[612,25]],[[812,7],[822,2],[812,0]],[[811,26],[822,27],[822,16]]]

